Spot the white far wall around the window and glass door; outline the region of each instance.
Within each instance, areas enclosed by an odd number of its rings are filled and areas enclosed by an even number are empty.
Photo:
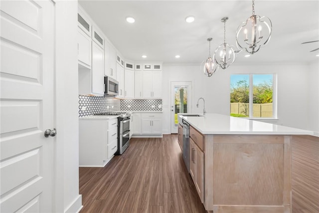
[[[219,69],[206,77],[197,65],[163,65],[162,93],[163,117],[170,116],[170,81],[192,81],[192,111],[202,113],[202,102],[196,108],[199,97],[205,99],[207,113],[229,115],[230,75],[241,73],[276,73],[278,76],[278,120],[270,121],[284,126],[319,131],[318,129],[318,65],[275,64],[236,65]],[[317,80],[314,80],[317,79]],[[317,95],[309,98],[309,91]],[[311,112],[317,117],[310,116]],[[316,111],[317,107],[317,111]],[[316,120],[317,119],[317,120]],[[168,119],[167,119],[168,120]],[[165,122],[165,121],[164,121]],[[316,126],[317,125],[317,126]],[[170,122],[163,123],[163,133],[169,131]]]

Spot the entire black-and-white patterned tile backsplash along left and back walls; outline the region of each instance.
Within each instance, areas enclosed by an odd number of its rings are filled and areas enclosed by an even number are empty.
[[[83,109],[82,107],[85,107]],[[79,95],[79,117],[100,112],[161,112],[162,99],[117,99]]]

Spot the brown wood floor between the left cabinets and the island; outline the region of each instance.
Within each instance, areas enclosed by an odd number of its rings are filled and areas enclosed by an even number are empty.
[[[81,213],[205,213],[177,135],[132,138],[104,168],[80,168]]]

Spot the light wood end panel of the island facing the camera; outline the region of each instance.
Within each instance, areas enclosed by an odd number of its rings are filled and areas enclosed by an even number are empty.
[[[290,213],[290,140],[285,135],[205,135],[205,209]]]

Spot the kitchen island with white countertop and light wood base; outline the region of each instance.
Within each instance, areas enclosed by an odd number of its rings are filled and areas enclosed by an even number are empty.
[[[190,175],[214,213],[290,213],[292,140],[314,132],[219,114],[190,124]]]

